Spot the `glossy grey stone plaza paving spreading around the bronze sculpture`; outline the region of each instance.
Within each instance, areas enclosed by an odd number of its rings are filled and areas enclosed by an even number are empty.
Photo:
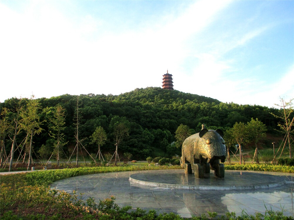
[[[244,210],[247,214],[255,214],[256,211],[264,214],[266,208],[281,211],[281,207],[285,215],[293,216],[294,214],[294,174],[226,170],[225,178],[227,179],[218,179],[211,173],[206,174],[206,180],[200,180],[202,185],[224,186],[258,185],[285,180],[285,184],[278,187],[242,190],[172,189],[144,186],[129,181],[129,177],[133,175],[143,175],[148,178],[148,172],[153,181],[157,176],[158,182],[174,182],[178,180],[173,179],[172,176],[185,176],[183,170],[99,173],[59,180],[51,184],[51,188],[56,187],[69,193],[73,190],[84,193],[82,198],[84,201],[88,197],[93,197],[99,202],[99,199],[114,195],[119,206],[155,209],[158,213],[174,212],[182,217],[191,217],[207,213],[207,211],[216,211],[218,214],[234,211],[240,215]],[[234,175],[241,177],[239,180],[231,178],[229,182],[229,177]],[[188,180],[181,180],[181,184],[198,184],[199,181],[193,178],[194,175],[190,174]],[[240,178],[243,178],[243,183],[240,183]]]

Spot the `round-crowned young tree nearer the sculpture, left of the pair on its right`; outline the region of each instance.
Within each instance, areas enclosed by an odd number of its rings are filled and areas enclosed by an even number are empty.
[[[239,163],[242,164],[242,152],[241,147],[243,144],[248,142],[248,128],[243,122],[235,123],[233,128],[231,128],[228,133],[232,138],[235,139],[235,141],[239,145],[239,153],[240,153],[240,161]]]

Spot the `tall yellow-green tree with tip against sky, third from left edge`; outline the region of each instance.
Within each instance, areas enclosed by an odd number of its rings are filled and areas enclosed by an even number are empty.
[[[27,105],[26,105],[26,111],[23,111],[21,113],[22,119],[20,120],[20,126],[22,129],[24,129],[28,135],[28,139],[30,140],[29,143],[27,143],[29,151],[29,162],[28,162],[28,168],[31,166],[32,163],[32,148],[33,148],[33,136],[35,134],[41,133],[43,128],[41,128],[42,122],[40,121],[39,116],[39,109],[40,103],[34,99],[34,95],[31,96],[31,99],[29,99]]]

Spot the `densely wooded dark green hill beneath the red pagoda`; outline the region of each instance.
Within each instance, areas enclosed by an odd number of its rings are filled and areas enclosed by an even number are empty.
[[[22,100],[26,106],[28,99]],[[38,99],[40,103],[39,115],[43,121],[44,129],[39,135],[34,136],[34,149],[42,144],[53,149],[52,138],[49,136],[50,123],[47,119],[57,104],[65,109],[65,152],[75,146],[75,115],[77,108],[77,96],[69,94],[58,97]],[[1,104],[1,112],[4,107],[14,111],[19,99],[7,99]],[[159,87],[135,89],[120,95],[80,95],[79,114],[81,116],[79,138],[90,153],[97,152],[97,146],[90,143],[89,138],[96,127],[102,126],[108,135],[108,141],[102,146],[102,152],[114,152],[115,142],[111,135],[111,124],[118,120],[128,123],[129,136],[119,146],[119,152],[131,152],[135,159],[146,158],[165,154],[167,148],[174,139],[174,134],[180,124],[184,124],[199,132],[201,124],[208,128],[221,128],[225,131],[231,128],[235,122],[247,123],[251,118],[258,118],[273,132],[277,126],[277,119],[270,113],[277,114],[277,109],[269,109],[265,106],[238,105],[235,103],[222,103],[216,99],[183,93],[177,90],[165,90]],[[119,117],[115,117],[119,116]],[[1,116],[3,119],[3,115]],[[11,122],[12,123],[12,122]],[[21,131],[18,140],[25,137]],[[6,149],[9,152],[11,143],[6,136]],[[171,152],[168,152],[171,153]],[[165,155],[166,156],[166,155]]]

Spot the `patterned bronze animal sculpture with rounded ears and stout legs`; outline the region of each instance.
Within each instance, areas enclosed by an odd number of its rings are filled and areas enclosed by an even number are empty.
[[[205,125],[199,133],[186,138],[182,145],[181,166],[185,173],[191,174],[194,170],[196,178],[204,178],[204,173],[214,170],[218,178],[225,176],[223,162],[227,157],[223,132],[220,129],[208,130]],[[219,160],[222,163],[219,163]]]

